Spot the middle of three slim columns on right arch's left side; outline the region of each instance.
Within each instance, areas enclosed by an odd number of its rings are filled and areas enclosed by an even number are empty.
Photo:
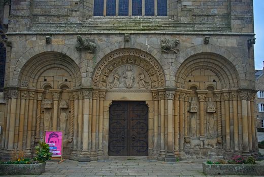
[[[180,136],[180,154],[183,153],[184,146],[184,125],[183,125],[183,116],[184,116],[184,93],[180,93],[179,97],[179,136]]]

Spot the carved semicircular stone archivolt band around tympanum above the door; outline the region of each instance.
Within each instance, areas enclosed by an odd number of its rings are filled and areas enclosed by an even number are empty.
[[[152,89],[164,87],[164,73],[159,63],[151,55],[137,49],[117,50],[104,57],[95,69],[92,81],[93,86],[106,88],[109,77],[114,75],[114,70],[121,65],[127,64],[143,68],[147,73],[145,76],[148,75],[150,77],[149,81]],[[121,77],[122,73],[119,72],[118,74],[118,77]],[[135,76],[138,77],[138,75]],[[118,78],[116,80],[115,84],[120,83]],[[112,80],[109,81],[112,83]]]

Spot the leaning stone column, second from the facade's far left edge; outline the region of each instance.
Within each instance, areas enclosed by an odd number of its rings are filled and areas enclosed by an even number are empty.
[[[17,90],[11,90],[11,111],[10,111],[10,123],[9,123],[9,138],[8,149],[14,148],[14,136],[15,136],[15,122],[16,122],[16,102],[17,102]]]

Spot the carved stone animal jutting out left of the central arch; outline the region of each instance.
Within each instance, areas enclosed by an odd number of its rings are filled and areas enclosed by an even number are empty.
[[[87,50],[88,53],[94,53],[96,50],[96,45],[89,38],[83,38],[81,35],[77,35],[78,46],[76,46],[77,51],[82,49]]]

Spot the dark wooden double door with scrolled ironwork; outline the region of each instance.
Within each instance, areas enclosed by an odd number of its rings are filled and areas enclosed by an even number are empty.
[[[144,101],[113,101],[109,109],[108,153],[148,155],[148,106]]]

